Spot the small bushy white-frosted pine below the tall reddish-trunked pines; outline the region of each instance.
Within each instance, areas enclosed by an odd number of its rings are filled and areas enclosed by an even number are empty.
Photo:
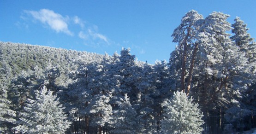
[[[163,134],[201,134],[202,112],[186,93],[175,92],[173,98],[162,103],[165,118],[161,121]]]

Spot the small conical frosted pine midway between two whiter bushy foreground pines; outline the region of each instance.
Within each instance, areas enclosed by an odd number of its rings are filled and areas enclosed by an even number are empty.
[[[113,126],[111,130],[114,134],[137,134],[137,112],[131,106],[130,98],[125,93],[125,98],[121,99],[119,109],[113,112]]]

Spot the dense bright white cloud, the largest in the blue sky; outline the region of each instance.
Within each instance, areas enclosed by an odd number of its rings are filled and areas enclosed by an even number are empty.
[[[36,20],[44,24],[48,24],[51,29],[55,30],[57,33],[63,32],[67,35],[73,35],[68,29],[67,19],[62,17],[62,15],[55,13],[52,10],[41,9],[40,11],[25,11],[26,13],[32,15]]]

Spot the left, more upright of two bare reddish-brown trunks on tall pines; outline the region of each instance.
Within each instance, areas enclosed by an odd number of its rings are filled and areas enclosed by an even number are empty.
[[[183,47],[183,57],[181,63],[181,78],[180,78],[180,90],[185,91],[185,70],[186,70],[186,59],[187,59],[187,40],[190,35],[190,28],[187,30],[187,35],[182,42]]]

